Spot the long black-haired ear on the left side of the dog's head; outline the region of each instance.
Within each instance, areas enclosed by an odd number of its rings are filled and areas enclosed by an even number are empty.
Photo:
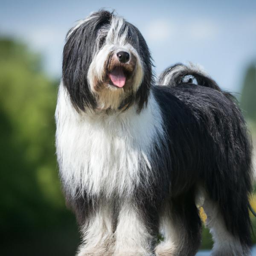
[[[96,108],[96,100],[90,92],[87,73],[96,49],[98,30],[111,22],[113,13],[94,12],[81,20],[67,33],[63,50],[62,81],[77,111],[85,107]]]

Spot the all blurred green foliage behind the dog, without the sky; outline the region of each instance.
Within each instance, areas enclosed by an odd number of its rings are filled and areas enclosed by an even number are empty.
[[[241,106],[256,120],[256,72],[244,80]],[[66,209],[55,157],[54,111],[58,81],[42,69],[42,56],[25,44],[0,38],[1,255],[74,255],[79,234]],[[256,122],[255,122],[256,123]],[[256,208],[256,201],[252,201]],[[201,209],[202,219],[206,216]],[[256,219],[253,219],[256,227]],[[255,239],[254,239],[254,242]],[[203,229],[202,248],[211,248]]]

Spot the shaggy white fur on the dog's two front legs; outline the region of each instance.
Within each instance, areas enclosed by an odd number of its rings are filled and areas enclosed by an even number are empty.
[[[101,202],[99,211],[88,218],[81,229],[83,243],[77,256],[153,256],[154,239],[143,215],[129,201],[121,206],[116,230],[113,230],[111,204]]]

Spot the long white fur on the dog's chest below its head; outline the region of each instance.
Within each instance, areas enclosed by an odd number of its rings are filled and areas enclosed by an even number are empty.
[[[56,108],[56,147],[65,189],[75,195],[129,196],[147,183],[154,143],[163,134],[157,102],[151,96],[141,113],[77,113],[60,87]],[[143,180],[142,180],[143,178]]]

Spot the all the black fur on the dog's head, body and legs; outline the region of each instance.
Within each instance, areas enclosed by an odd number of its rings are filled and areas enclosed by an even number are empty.
[[[104,36],[98,37],[98,32],[109,28],[112,19],[111,12],[96,12],[67,36],[62,79],[78,111],[97,107],[88,86],[87,72],[93,54],[105,41]],[[85,219],[90,218],[89,214],[95,214],[104,201],[113,209],[115,230],[119,204],[129,200],[140,212],[148,232],[154,236],[151,241],[153,250],[160,215],[167,205],[183,228],[184,245],[179,248],[179,256],[195,255],[201,239],[201,221],[195,206],[195,194],[200,184],[218,205],[227,230],[238,237],[245,248],[249,247],[252,149],[236,100],[210,77],[183,64],[169,67],[161,74],[160,84],[168,77],[165,86],[154,85],[151,55],[143,36],[126,21],[119,33],[124,31],[127,31],[127,41],[140,55],[144,77],[136,94],[129,95],[119,109],[123,111],[123,108],[136,104],[137,114],[140,114],[152,93],[160,106],[165,134],[159,134],[152,145],[152,172],[148,170],[151,175],[147,181],[140,177],[140,183],[134,184],[132,198],[115,198],[114,195],[111,200],[105,195],[92,198],[86,192],[80,198],[73,198],[67,193],[67,201],[76,212],[79,224],[83,225]],[[193,79],[186,81],[186,76],[192,76],[196,84],[192,83]],[[160,143],[159,138],[162,138]]]

